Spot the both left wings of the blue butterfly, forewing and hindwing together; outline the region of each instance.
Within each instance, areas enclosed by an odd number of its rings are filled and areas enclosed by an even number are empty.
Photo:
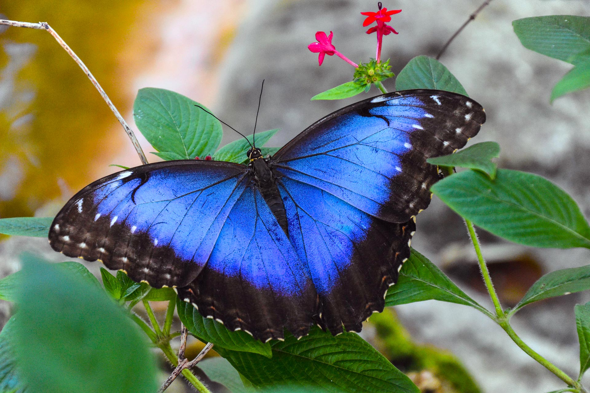
[[[104,177],[65,204],[49,240],[137,282],[176,286],[203,316],[264,341],[319,321],[307,265],[239,164],[166,161]]]

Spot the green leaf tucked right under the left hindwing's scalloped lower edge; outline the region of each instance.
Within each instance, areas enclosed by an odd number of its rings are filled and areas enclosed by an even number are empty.
[[[227,348],[233,351],[253,352],[263,356],[272,356],[270,344],[255,340],[244,331],[231,332],[213,319],[203,318],[201,314],[182,299],[176,300],[178,318],[196,338],[202,342],[212,342],[215,350]]]

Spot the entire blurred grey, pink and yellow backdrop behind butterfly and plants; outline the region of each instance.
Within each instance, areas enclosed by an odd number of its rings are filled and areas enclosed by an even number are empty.
[[[481,0],[483,1],[483,0]],[[481,4],[480,0],[396,0],[382,57],[398,73],[412,57],[435,56]],[[260,84],[266,79],[258,129],[281,128],[281,146],[337,108],[359,100],[309,101],[349,81],[350,65],[306,46],[316,31],[333,31],[333,44],[353,61],[375,55],[362,11],[375,1],[353,0],[19,0],[1,1],[0,14],[48,21],[77,52],[127,121],[137,89],[161,87],[212,108],[238,130],[251,133]],[[502,147],[499,164],[532,171],[563,187],[590,217],[590,91],[549,104],[555,83],[571,65],[522,47],[511,22],[526,16],[590,15],[587,0],[494,0],[458,36],[441,61],[486,107],[476,142]],[[75,191],[116,171],[108,164],[139,160],[121,127],[86,76],[45,32],[0,30],[0,217],[51,216]],[[394,90],[394,82],[386,88]],[[372,95],[378,91],[372,91]],[[224,142],[237,137],[227,132]],[[150,147],[143,141],[148,154]],[[588,250],[530,249],[479,231],[484,255],[504,305],[510,306],[544,273],[588,265]],[[440,201],[418,216],[412,245],[441,266],[461,288],[486,300],[464,224]],[[18,269],[23,250],[61,260],[44,239],[0,242],[0,277]],[[97,265],[90,264],[93,269]],[[571,375],[578,369],[573,315],[575,294],[527,306],[514,328],[540,354]],[[481,390],[546,392],[562,388],[486,316],[464,306],[421,302],[395,308],[415,342],[448,349],[461,359]],[[0,326],[8,305],[0,302]],[[379,346],[374,326],[363,336]]]

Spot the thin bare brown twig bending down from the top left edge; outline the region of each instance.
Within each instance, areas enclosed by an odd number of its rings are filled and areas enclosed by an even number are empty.
[[[58,42],[58,44],[60,44],[60,46],[62,48],[64,48],[64,50],[66,52],[68,52],[70,57],[74,59],[76,64],[78,64],[80,66],[80,68],[84,71],[84,74],[86,74],[86,76],[90,79],[90,81],[92,82],[94,87],[96,87],[96,90],[99,91],[101,97],[103,97],[103,100],[106,101],[107,105],[109,105],[110,110],[113,111],[115,117],[117,118],[117,120],[119,120],[119,123],[121,123],[121,125],[123,126],[123,129],[127,133],[127,136],[131,140],[131,143],[133,143],[133,147],[135,147],[135,150],[137,151],[137,155],[139,155],[139,159],[142,161],[142,163],[143,164],[148,163],[148,160],[147,160],[145,154],[143,154],[142,147],[139,146],[139,141],[137,141],[135,134],[133,134],[133,130],[129,127],[129,124],[127,124],[127,122],[124,120],[123,116],[119,113],[117,108],[114,106],[113,101],[110,100],[109,96],[105,93],[104,89],[101,87],[99,82],[96,80],[96,78],[94,78],[94,75],[92,75],[92,72],[90,72],[88,67],[86,67],[86,65],[80,60],[78,55],[76,55],[74,53],[74,51],[68,46],[68,44],[65,43],[65,41],[57,34],[57,32],[55,32],[55,30],[53,28],[51,28],[51,26],[49,24],[47,24],[47,22],[30,23],[30,22],[18,22],[18,21],[8,21],[6,19],[0,19],[0,25],[47,30],[47,32],[49,34],[51,34],[53,36],[53,38],[55,38],[55,40]]]

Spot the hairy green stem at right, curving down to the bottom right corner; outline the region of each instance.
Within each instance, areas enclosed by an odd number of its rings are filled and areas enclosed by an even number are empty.
[[[467,224],[469,236],[471,236],[471,242],[473,242],[473,247],[476,250],[477,260],[480,264],[481,274],[483,275],[483,279],[486,282],[487,290],[490,293],[491,301],[494,302],[494,307],[496,308],[496,318],[493,318],[494,321],[496,321],[501,326],[501,328],[504,329],[506,333],[508,333],[510,338],[512,338],[512,341],[514,341],[520,349],[525,351],[527,355],[535,359],[537,362],[539,362],[539,364],[543,365],[546,369],[548,369],[550,372],[559,377],[563,382],[568,384],[568,386],[572,387],[572,391],[584,392],[584,388],[582,388],[582,385],[579,384],[579,382],[574,381],[571,377],[569,377],[568,374],[565,374],[565,372],[561,371],[558,367],[553,365],[547,359],[543,358],[543,356],[533,351],[533,349],[530,348],[530,346],[526,345],[525,342],[522,341],[522,339],[520,339],[520,337],[516,334],[516,332],[514,332],[512,326],[510,326],[509,318],[507,318],[506,314],[502,309],[502,306],[500,305],[500,299],[498,299],[498,295],[496,294],[494,285],[491,282],[490,272],[487,269],[486,261],[483,259],[483,255],[481,254],[481,248],[479,245],[479,241],[477,240],[476,230],[473,227],[473,223],[467,219],[465,219],[465,223]]]

